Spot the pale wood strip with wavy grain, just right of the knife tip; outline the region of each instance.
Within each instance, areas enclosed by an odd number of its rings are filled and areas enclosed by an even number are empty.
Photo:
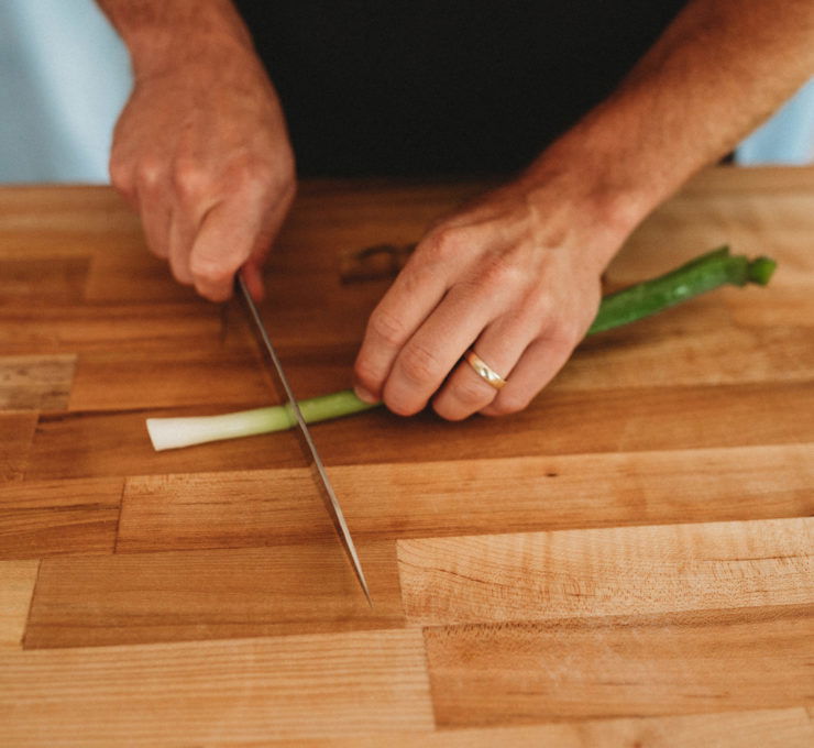
[[[814,519],[398,542],[413,625],[814,605]]]

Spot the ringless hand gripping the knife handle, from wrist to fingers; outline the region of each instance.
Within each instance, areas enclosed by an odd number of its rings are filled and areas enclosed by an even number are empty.
[[[244,266],[252,296],[262,297],[261,267],[296,177],[277,95],[253,51],[179,51],[136,76],[110,176],[180,283],[222,301]]]

